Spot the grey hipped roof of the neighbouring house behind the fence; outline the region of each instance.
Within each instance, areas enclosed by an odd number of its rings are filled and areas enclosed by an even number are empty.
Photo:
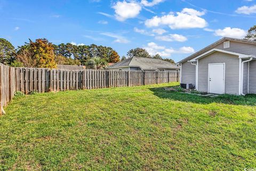
[[[145,57],[132,57],[124,59],[121,62],[108,66],[107,69],[113,69],[117,67],[140,67],[142,70],[157,70],[157,69],[180,69],[170,62],[163,61],[161,59],[145,58]]]

